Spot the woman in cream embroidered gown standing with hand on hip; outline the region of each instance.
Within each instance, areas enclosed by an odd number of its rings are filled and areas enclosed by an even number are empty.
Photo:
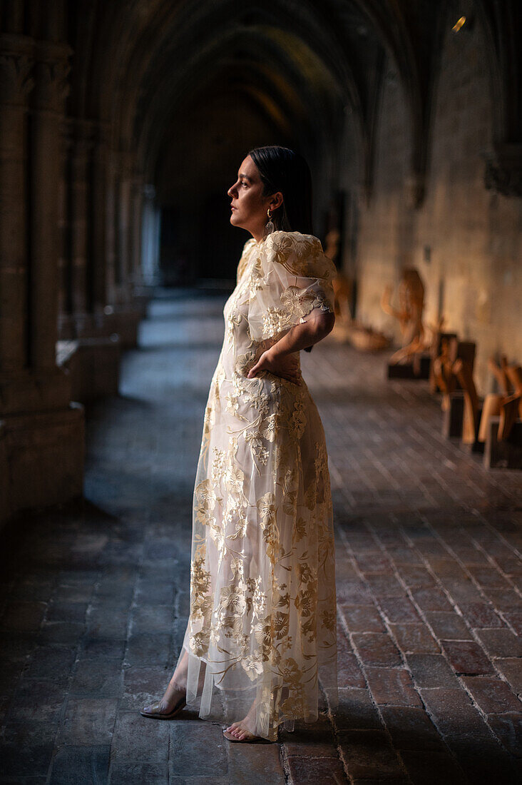
[[[176,670],[144,717],[185,705],[275,741],[337,705],[334,531],[327,450],[300,369],[334,327],[334,264],[312,235],[305,159],[251,150],[228,190],[252,237],[224,305],[195,478],[190,615]],[[268,216],[268,221],[266,221]]]

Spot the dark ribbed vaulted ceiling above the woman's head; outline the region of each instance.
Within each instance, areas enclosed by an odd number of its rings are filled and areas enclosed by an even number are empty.
[[[210,180],[213,171],[216,180],[223,173],[210,161],[221,160],[233,173],[238,149],[254,144],[294,144],[313,159],[323,141],[337,141],[345,107],[370,176],[385,58],[400,73],[421,134],[442,6],[428,0],[80,3],[71,9],[82,63],[71,112],[107,122],[116,149],[137,145],[148,179],[170,203],[194,188],[198,162],[188,160],[194,158],[189,148],[199,151]],[[420,149],[413,165],[422,168]]]

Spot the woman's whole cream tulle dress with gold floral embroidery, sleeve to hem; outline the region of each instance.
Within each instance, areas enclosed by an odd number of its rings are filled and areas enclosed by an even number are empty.
[[[335,667],[333,510],[304,380],[247,374],[312,309],[333,310],[333,274],[312,235],[245,243],[194,489],[188,648],[217,685],[255,688],[258,732],[272,740],[285,718],[308,716],[319,669]]]

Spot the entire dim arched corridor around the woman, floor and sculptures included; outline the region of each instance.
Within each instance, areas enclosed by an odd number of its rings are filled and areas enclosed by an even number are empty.
[[[520,40],[520,0],[0,2],[0,785],[522,779]],[[341,701],[254,746],[139,709],[268,144],[338,272]]]

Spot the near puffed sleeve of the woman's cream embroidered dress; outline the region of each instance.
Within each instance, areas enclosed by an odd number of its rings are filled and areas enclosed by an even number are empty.
[[[250,338],[258,342],[286,332],[316,308],[334,312],[336,273],[314,235],[284,231],[268,235],[250,275]]]

